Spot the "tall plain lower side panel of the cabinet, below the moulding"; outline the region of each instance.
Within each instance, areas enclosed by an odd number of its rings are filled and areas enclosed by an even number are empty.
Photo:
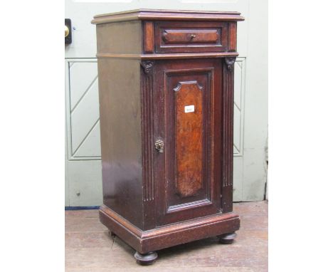
[[[140,64],[100,58],[103,203],[142,228]]]

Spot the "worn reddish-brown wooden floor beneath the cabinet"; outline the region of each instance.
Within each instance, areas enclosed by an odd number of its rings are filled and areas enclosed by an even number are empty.
[[[234,211],[240,215],[234,244],[218,244],[212,237],[174,246],[157,251],[152,266],[138,266],[135,251],[108,236],[97,210],[65,211],[65,271],[268,271],[268,203],[236,203]]]

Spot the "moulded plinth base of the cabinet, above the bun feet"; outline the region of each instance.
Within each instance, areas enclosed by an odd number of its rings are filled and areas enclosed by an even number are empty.
[[[142,231],[105,205],[100,206],[100,221],[140,254],[170,246],[232,234],[239,229],[237,214],[214,214]]]

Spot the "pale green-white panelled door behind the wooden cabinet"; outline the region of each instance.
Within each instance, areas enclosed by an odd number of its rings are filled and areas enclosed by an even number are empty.
[[[131,9],[240,11],[234,98],[234,201],[262,200],[268,133],[268,33],[265,0],[66,0],[72,43],[65,45],[65,206],[102,204],[96,14]],[[121,38],[121,37],[119,37]]]

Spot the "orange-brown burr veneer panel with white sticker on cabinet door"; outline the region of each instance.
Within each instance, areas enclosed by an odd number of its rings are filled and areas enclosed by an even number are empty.
[[[203,183],[202,92],[207,90],[203,90],[196,80],[192,80],[179,81],[174,91],[176,96],[176,193],[181,197],[191,197],[202,188]],[[193,112],[186,112],[192,108]]]

